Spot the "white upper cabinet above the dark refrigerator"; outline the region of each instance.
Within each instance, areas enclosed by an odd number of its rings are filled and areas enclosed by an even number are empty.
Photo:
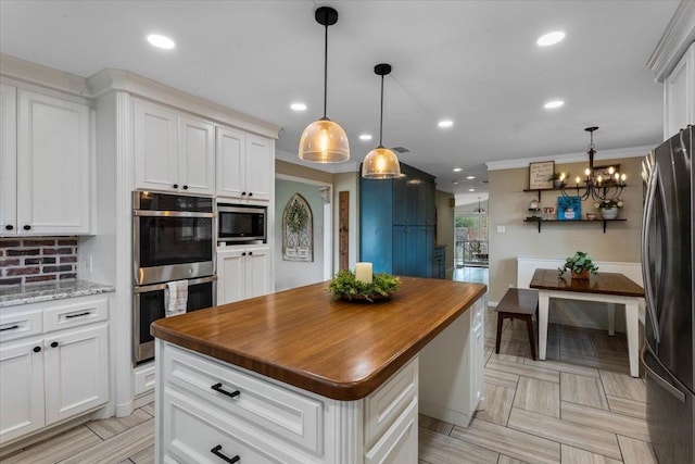
[[[695,42],[664,80],[664,139],[695,124]]]

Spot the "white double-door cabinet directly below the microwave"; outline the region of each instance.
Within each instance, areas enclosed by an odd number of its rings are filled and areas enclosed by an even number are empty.
[[[217,249],[217,304],[270,292],[270,248],[232,246]]]

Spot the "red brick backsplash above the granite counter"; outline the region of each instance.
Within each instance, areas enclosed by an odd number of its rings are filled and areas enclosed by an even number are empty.
[[[76,237],[0,238],[0,286],[76,278]]]

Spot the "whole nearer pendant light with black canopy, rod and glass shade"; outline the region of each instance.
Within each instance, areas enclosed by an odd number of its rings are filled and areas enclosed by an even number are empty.
[[[324,47],[324,117],[304,129],[300,139],[300,159],[315,163],[342,163],[350,160],[348,136],[339,124],[326,116],[328,96],[328,26],[338,22],[338,12],[330,7],[320,7],[314,12],[316,22],[326,27]]]

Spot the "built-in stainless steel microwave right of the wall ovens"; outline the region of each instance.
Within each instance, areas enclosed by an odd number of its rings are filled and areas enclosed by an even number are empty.
[[[217,204],[217,241],[267,242],[265,206]]]

